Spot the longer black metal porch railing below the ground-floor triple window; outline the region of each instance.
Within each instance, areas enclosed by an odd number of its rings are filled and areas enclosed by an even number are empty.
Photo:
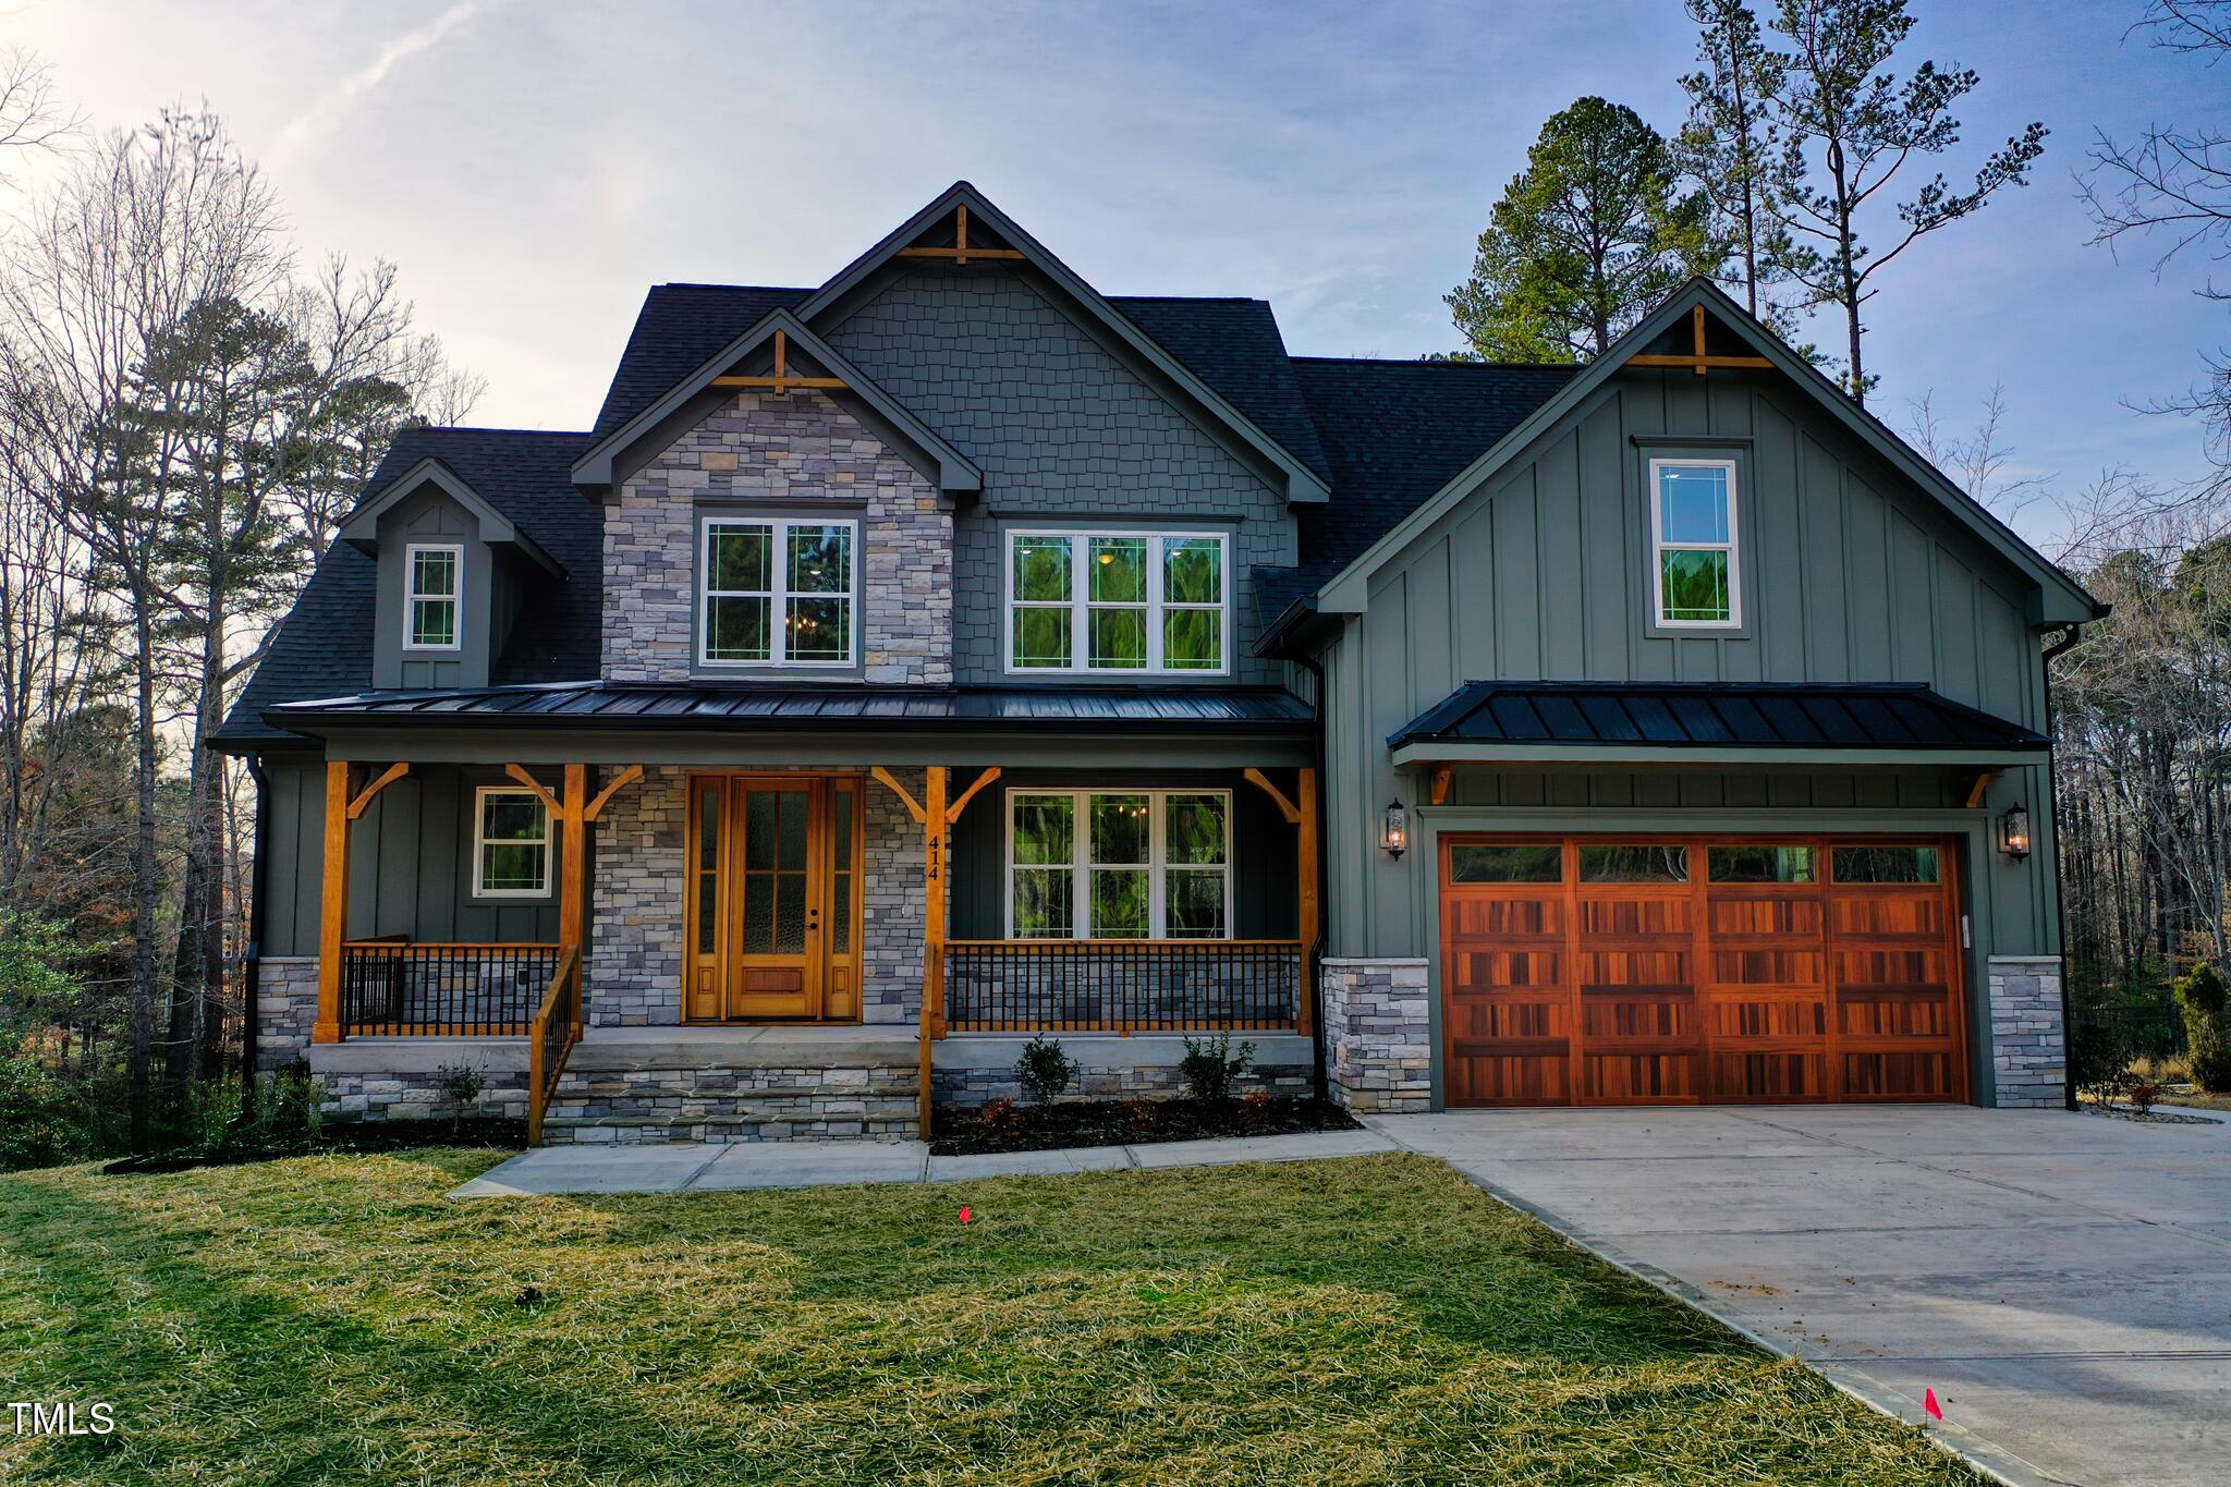
[[[1287,1030],[1301,941],[948,941],[953,1032]]]

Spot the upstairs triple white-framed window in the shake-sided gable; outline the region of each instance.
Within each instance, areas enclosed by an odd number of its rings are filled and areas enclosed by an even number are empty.
[[[1225,533],[1008,531],[1006,669],[1227,673],[1229,546]]]

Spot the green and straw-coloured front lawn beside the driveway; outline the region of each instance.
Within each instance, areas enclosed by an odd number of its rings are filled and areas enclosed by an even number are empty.
[[[0,1398],[118,1420],[0,1480],[1977,1480],[1421,1157],[444,1197],[493,1159],[0,1177]]]

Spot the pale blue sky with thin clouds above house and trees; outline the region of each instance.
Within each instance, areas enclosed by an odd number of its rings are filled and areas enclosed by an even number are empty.
[[[2088,245],[2099,132],[2224,123],[2224,80],[2126,36],[2140,0],[1914,0],[1981,74],[1961,172],[2028,120],[2032,183],[1883,270],[1874,399],[1961,433],[2003,386],[2010,475],[2202,470],[2173,397],[2231,343],[2209,263]],[[1294,354],[1417,357],[1542,120],[1584,94],[1678,127],[1678,0],[0,0],[98,129],[205,100],[306,261],[390,259],[489,379],[473,421],[587,428],[643,292],[814,285],[955,178],[1109,294],[1252,294]],[[1825,339],[1841,337],[1820,325]],[[2050,506],[2019,524],[2050,542]]]

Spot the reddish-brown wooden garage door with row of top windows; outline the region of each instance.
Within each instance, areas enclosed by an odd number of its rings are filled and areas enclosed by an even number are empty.
[[[1966,1099],[1948,838],[1441,840],[1450,1106]]]

